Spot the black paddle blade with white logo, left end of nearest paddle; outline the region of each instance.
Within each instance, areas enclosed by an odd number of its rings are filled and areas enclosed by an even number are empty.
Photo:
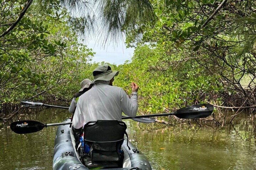
[[[12,122],[11,130],[18,134],[34,133],[44,128],[45,124],[34,120]]]

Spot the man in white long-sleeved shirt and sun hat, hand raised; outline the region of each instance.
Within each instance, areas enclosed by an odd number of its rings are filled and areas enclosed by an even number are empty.
[[[81,128],[85,123],[95,120],[122,120],[122,112],[135,117],[138,110],[139,86],[132,82],[132,95],[117,86],[113,86],[118,71],[112,71],[107,64],[98,66],[93,72],[93,86],[82,94],[77,102],[73,117],[74,128]]]

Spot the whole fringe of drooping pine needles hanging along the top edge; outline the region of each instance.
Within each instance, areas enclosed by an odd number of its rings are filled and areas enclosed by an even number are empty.
[[[123,38],[124,30],[155,21],[149,0],[34,0],[33,4],[32,10],[40,14],[66,9],[72,13],[68,23],[73,29],[85,38],[98,35],[105,43]]]

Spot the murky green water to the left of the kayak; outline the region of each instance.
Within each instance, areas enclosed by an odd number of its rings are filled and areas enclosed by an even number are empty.
[[[47,109],[26,115],[26,120],[43,123],[62,122],[69,117],[66,110]],[[52,169],[56,126],[32,134],[15,134],[8,126],[0,131],[0,169]]]

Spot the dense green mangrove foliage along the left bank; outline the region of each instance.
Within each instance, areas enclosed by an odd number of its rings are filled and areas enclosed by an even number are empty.
[[[1,117],[16,111],[15,106],[22,99],[70,100],[86,76],[82,72],[89,68],[88,61],[94,53],[79,43],[78,36],[68,26],[69,13],[65,8],[57,13],[58,5],[45,15],[27,11],[14,29],[5,34],[23,4],[1,1],[1,5]]]

